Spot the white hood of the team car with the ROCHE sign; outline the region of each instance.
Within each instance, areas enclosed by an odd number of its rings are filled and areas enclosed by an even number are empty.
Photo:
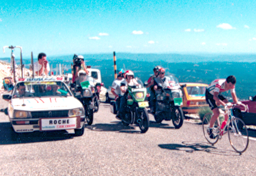
[[[74,97],[24,98],[24,100],[17,98],[12,99],[12,104],[15,110],[23,111],[68,110],[83,107],[82,103]]]

